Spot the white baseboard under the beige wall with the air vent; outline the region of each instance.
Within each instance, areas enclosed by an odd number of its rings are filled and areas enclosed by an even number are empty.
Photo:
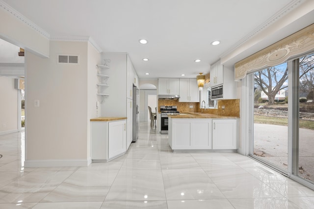
[[[77,160],[29,160],[24,162],[24,167],[87,167],[92,160],[77,159]]]

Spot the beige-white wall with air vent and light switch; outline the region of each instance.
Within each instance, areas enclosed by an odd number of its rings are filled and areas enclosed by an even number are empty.
[[[87,165],[87,51],[87,42],[52,41],[50,58],[26,52],[26,167]],[[58,64],[58,54],[79,64]]]

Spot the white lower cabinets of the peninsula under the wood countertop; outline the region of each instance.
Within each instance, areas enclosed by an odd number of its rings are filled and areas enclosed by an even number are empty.
[[[169,117],[172,150],[236,149],[237,119]]]

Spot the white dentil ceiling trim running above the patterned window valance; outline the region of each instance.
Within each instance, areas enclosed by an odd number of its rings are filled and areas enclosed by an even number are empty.
[[[251,33],[243,37],[240,41],[238,41],[233,47],[222,53],[219,57],[224,57],[234,51],[239,46],[242,46],[245,42],[249,41],[251,38],[256,36],[258,33],[260,33],[262,30],[266,29],[271,24],[275,23],[285,15],[287,15],[289,12],[291,12],[293,9],[298,7],[300,4],[302,4],[306,0],[291,0],[290,3],[287,4],[286,7],[282,8],[280,11],[278,11],[275,15],[273,15],[271,18],[269,18],[267,21],[259,25],[255,30],[253,30]],[[270,5],[271,6],[271,5]]]

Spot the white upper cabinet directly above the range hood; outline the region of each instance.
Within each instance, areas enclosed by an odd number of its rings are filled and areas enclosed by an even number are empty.
[[[159,78],[158,94],[179,95],[179,78]]]

